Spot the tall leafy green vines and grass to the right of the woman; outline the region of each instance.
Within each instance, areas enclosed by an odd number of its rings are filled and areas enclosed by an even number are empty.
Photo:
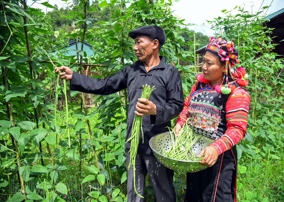
[[[225,18],[211,22],[216,33],[235,42],[241,65],[249,74],[248,134],[238,144],[238,157],[246,168],[238,182],[242,201],[283,200],[278,193],[283,183],[279,183],[281,177],[274,176],[274,171],[280,176],[283,173],[278,166],[283,166],[284,59],[273,52],[277,44],[271,38],[273,28],[266,27],[267,20],[262,16],[265,9],[267,6],[252,14],[235,7],[233,11],[222,11]],[[270,179],[277,180],[274,184]]]

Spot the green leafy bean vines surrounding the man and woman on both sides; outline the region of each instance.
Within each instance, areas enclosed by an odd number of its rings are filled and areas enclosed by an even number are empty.
[[[107,96],[94,95],[93,107],[88,108],[85,95],[70,92],[68,85],[64,86],[54,74],[54,67],[68,65],[83,72],[82,63],[94,63],[100,64],[89,69],[94,77],[113,75],[136,61],[134,41],[128,32],[156,24],[167,35],[160,54],[180,70],[186,96],[195,74],[182,67],[180,61],[188,61],[194,47],[199,48],[197,43],[205,45],[205,39],[196,33],[194,44],[192,31],[181,28],[183,20],[172,15],[171,3],[74,1],[70,9],[58,10],[45,2],[42,4],[54,8],[45,14],[39,9],[23,9],[25,5],[18,1],[0,1],[1,200],[127,201],[126,90]],[[224,11],[228,17],[214,22],[216,30],[226,29],[226,39],[234,39],[242,53],[242,65],[251,77],[248,135],[239,144],[239,154],[243,153],[239,162],[246,168],[246,175],[238,181],[241,187],[238,197],[277,201],[281,197],[278,192],[283,190],[281,178],[273,175],[270,179],[277,180],[272,188],[261,194],[260,189],[254,192],[255,187],[247,186],[245,177],[263,169],[271,170],[271,175],[274,170],[279,176],[283,172],[278,171],[283,167],[284,147],[283,78],[279,76],[283,59],[271,52],[275,44],[266,35],[271,30],[262,26],[261,13],[248,15],[238,9],[238,18]],[[87,57],[83,47],[78,47],[74,56],[57,54],[72,39],[89,42],[94,54]],[[192,59],[189,62],[194,63]],[[274,165],[274,161],[279,164]],[[264,175],[259,176],[263,181],[254,181],[255,186],[259,183],[268,187],[272,183],[269,173]],[[174,184],[178,200],[182,201],[186,189],[184,175],[176,173]],[[153,198],[148,180],[145,199]]]

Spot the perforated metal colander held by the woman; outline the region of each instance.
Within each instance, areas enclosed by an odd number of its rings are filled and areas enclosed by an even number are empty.
[[[187,173],[197,172],[207,168],[206,166],[200,165],[200,161],[176,160],[162,155],[162,151],[168,151],[170,149],[171,142],[172,139],[170,132],[155,135],[149,141],[150,148],[154,152],[154,155],[158,159],[158,161],[161,162],[161,164],[174,171]],[[212,142],[214,142],[214,140],[202,136],[201,139],[199,139],[196,144],[193,145],[194,156],[196,157],[202,149],[210,145]]]

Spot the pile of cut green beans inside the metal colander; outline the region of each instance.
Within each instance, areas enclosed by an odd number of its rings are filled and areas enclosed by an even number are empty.
[[[170,129],[170,128],[169,128]],[[200,161],[202,155],[199,158],[196,158],[193,154],[193,145],[201,138],[197,135],[193,135],[193,130],[188,126],[187,123],[179,131],[178,135],[175,133],[174,129],[170,129],[171,135],[171,145],[168,151],[162,151],[164,156],[167,156],[176,160],[184,160],[184,161]]]

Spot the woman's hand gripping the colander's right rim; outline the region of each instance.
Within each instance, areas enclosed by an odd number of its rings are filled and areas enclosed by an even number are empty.
[[[204,153],[205,155],[204,157],[202,157],[200,164],[205,165],[206,167],[213,166],[216,163],[218,156],[219,156],[216,149],[209,145],[199,152],[199,154],[197,155],[197,158],[201,157]]]

